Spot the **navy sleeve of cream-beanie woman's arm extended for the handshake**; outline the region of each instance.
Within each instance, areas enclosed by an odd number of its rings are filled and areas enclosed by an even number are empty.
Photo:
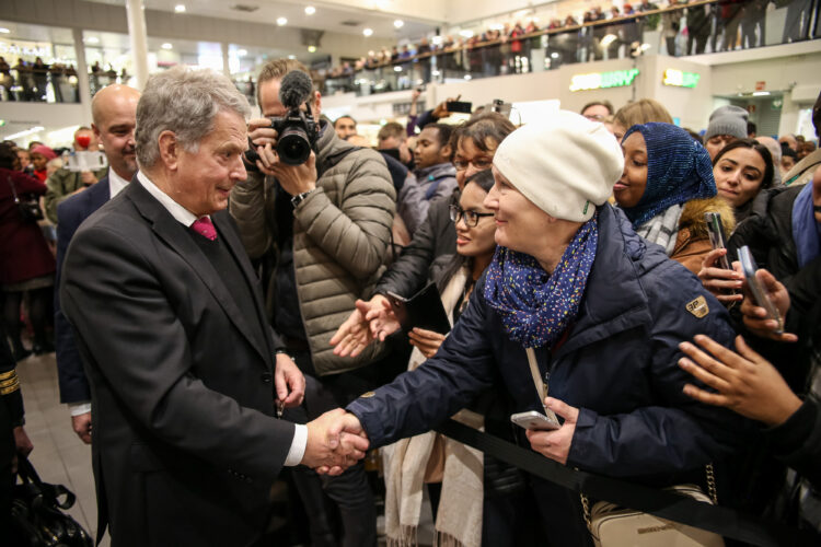
[[[486,311],[484,298],[472,298],[436,356],[348,405],[371,446],[429,431],[492,387],[496,361]]]

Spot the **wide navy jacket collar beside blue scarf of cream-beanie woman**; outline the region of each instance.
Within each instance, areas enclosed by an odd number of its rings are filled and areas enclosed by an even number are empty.
[[[555,357],[652,321],[639,278],[667,259],[660,247],[647,247],[622,211],[599,208],[599,246],[585,299],[567,341]]]

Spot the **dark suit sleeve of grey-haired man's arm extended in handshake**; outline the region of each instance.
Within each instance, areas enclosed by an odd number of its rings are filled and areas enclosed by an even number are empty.
[[[124,229],[125,230],[125,229]],[[74,234],[60,286],[78,345],[129,416],[170,446],[273,480],[293,424],[242,407],[196,375],[195,350],[151,245],[109,226]]]

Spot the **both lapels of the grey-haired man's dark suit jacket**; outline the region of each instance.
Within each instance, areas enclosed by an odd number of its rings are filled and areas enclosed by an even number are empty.
[[[234,302],[231,293],[226,287],[222,278],[217,274],[217,270],[211,265],[210,260],[205,256],[203,251],[197,247],[197,244],[190,238],[185,232],[188,228],[181,224],[174,219],[171,213],[160,203],[143,186],[137,181],[135,175],[131,184],[123,190],[123,194],[127,199],[137,208],[138,212],[151,224],[153,232],[157,236],[167,244],[174,252],[176,252],[188,265],[192,271],[203,281],[208,290],[213,295],[215,300],[219,303],[226,315],[231,319],[234,326],[242,333],[247,339],[248,344],[256,348],[259,354],[265,360],[265,363],[270,368],[273,366],[273,348],[268,337],[267,324],[263,326],[263,336],[265,338],[265,346],[262,347],[255,336],[252,336],[251,327],[245,318],[245,315],[240,311]],[[253,288],[256,286],[256,277],[251,270],[250,263],[246,257],[242,256],[238,249],[242,249],[242,243],[234,233],[233,226],[230,224],[230,219],[227,211],[219,211],[211,214],[211,220],[217,226],[217,231],[221,237],[226,240],[226,246],[230,249],[231,254],[240,265],[245,281],[252,287],[252,293],[254,295],[254,306],[256,307],[256,316],[264,317],[262,303],[259,302],[256,291]],[[262,321],[262,319],[261,319]]]

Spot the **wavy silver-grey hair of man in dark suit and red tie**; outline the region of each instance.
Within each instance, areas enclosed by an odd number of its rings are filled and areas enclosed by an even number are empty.
[[[212,130],[220,112],[235,112],[243,119],[251,106],[226,75],[213,70],[174,67],[148,79],[137,104],[135,141],[140,168],[160,159],[160,133],[173,131],[181,146],[196,153],[199,141]]]

